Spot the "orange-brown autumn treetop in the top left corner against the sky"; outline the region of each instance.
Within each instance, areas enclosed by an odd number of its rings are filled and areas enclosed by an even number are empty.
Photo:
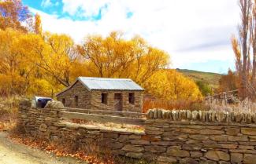
[[[0,1],[0,29],[11,27],[20,31],[30,31],[32,14],[20,0]]]

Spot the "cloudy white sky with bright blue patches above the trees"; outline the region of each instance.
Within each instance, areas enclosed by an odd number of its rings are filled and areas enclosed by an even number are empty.
[[[224,73],[234,67],[230,43],[239,24],[236,0],[22,0],[42,16],[43,30],[70,35],[123,31],[170,54],[170,67]]]

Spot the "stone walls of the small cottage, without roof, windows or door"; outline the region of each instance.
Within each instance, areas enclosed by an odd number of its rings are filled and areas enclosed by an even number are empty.
[[[102,93],[107,93],[107,104],[102,104]],[[91,90],[88,91],[81,82],[77,81],[72,88],[57,96],[59,101],[65,99],[65,107],[87,108],[114,111],[114,94],[121,93],[123,99],[123,111],[141,112],[143,107],[142,91],[120,91],[120,90]],[[129,93],[134,93],[134,104],[129,103]],[[78,97],[76,105],[75,96]]]

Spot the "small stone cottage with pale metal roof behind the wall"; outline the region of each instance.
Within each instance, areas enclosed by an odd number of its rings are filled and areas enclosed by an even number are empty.
[[[56,95],[65,107],[141,112],[144,89],[129,78],[76,78]]]

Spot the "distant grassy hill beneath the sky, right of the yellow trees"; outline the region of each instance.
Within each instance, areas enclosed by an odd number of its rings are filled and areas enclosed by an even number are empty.
[[[187,69],[179,69],[176,71],[186,75],[187,77],[193,79],[195,82],[202,81],[208,83],[213,89],[216,89],[219,85],[219,79],[221,78],[221,74],[213,73],[213,72],[204,72],[204,71],[194,71]]]

